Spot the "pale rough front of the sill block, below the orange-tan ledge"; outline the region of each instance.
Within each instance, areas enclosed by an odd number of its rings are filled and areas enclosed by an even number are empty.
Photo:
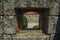
[[[18,36],[19,35],[19,36]],[[22,35],[22,36],[21,36]],[[48,35],[43,35],[43,34],[16,34],[13,36],[13,40],[49,40]]]

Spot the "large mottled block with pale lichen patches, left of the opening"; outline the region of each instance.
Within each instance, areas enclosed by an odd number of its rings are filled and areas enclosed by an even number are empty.
[[[16,33],[17,21],[15,16],[4,16],[4,33],[14,34]]]

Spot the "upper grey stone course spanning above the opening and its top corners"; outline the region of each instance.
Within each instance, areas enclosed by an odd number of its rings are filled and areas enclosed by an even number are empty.
[[[15,15],[14,12],[14,7],[49,7],[50,8],[50,15],[58,15],[58,10],[59,10],[59,3],[53,2],[50,3],[47,0],[39,0],[39,1],[34,1],[34,0],[8,0],[7,2],[4,2],[4,14],[5,15]]]

